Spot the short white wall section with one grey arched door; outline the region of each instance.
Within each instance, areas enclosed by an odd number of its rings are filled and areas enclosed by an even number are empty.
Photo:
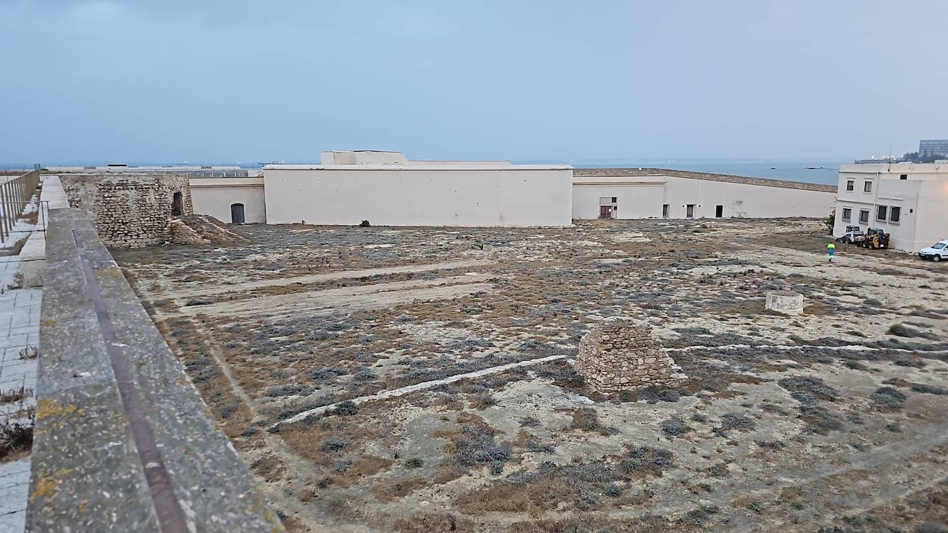
[[[266,222],[264,178],[191,178],[194,214],[230,220],[230,205],[244,204],[244,222]]]

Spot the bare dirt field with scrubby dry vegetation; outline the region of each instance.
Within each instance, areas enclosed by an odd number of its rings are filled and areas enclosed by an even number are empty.
[[[291,530],[948,530],[948,265],[804,220],[242,229],[115,256]],[[613,316],[689,382],[590,390]]]

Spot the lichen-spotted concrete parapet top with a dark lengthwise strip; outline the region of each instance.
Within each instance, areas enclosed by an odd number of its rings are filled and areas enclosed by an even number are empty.
[[[27,531],[283,531],[89,218],[46,235]]]

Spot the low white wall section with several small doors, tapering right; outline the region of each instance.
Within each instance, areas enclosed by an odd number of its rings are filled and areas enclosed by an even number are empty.
[[[677,176],[577,176],[573,183],[575,219],[599,217],[600,198],[616,198],[619,219],[684,219],[693,205],[693,218],[787,217],[821,218],[830,215],[835,194],[830,191],[682,178]]]

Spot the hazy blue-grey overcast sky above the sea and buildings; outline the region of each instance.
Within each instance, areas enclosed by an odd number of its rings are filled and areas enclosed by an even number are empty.
[[[0,162],[843,160],[948,137],[948,2],[0,0]]]

